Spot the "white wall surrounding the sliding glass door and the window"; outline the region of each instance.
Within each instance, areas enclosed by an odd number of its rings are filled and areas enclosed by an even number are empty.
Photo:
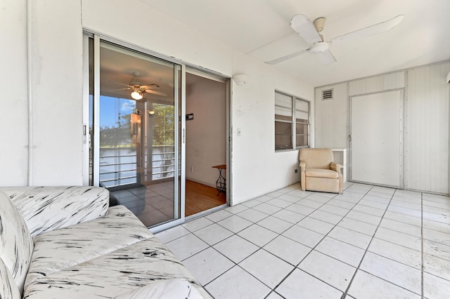
[[[274,90],[313,100],[312,86],[233,51],[138,0],[31,2],[32,94],[36,108],[33,126],[37,146],[32,165],[34,185],[82,184],[83,29],[212,69],[226,77],[248,74],[248,84],[233,84],[231,95],[233,203],[252,199],[298,180],[293,171],[297,167],[297,151],[274,152]],[[27,74],[23,62],[26,58],[24,5],[24,1],[2,3],[4,11],[8,11],[8,26],[2,26],[0,32],[5,41],[11,41],[8,44],[11,48],[8,47],[1,59],[3,62],[5,57],[12,55],[7,58],[11,60],[9,65],[12,69],[17,65],[18,71],[15,73],[8,69],[7,74],[3,68],[1,71],[2,76],[11,77],[1,81],[1,87],[15,101],[6,102],[1,109],[6,126],[2,128],[0,138],[2,142],[11,140],[15,136],[11,131],[15,128],[18,128],[20,137],[1,155],[0,185],[26,183],[27,164],[23,161],[26,157],[26,93],[21,90]],[[145,18],[136,18],[130,13],[130,8]],[[10,35],[11,31],[17,36]],[[21,114],[19,121],[10,113],[15,110]],[[236,136],[236,128],[240,128],[242,135]]]

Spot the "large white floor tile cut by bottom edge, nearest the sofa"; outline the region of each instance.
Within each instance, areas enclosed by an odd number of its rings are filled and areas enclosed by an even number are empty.
[[[260,299],[271,292],[268,286],[239,266],[221,274],[205,288],[212,297],[221,299]]]

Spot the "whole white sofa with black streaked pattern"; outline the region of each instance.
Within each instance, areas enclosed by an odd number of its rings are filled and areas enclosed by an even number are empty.
[[[101,187],[0,187],[0,298],[210,298]]]

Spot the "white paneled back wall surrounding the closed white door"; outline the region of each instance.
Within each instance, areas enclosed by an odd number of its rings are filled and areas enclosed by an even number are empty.
[[[404,88],[404,187],[449,194],[450,61],[315,89],[315,147],[347,148],[349,97]],[[322,91],[333,88],[333,100]]]

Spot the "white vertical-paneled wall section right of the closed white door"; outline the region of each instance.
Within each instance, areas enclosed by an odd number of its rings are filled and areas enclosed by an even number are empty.
[[[450,62],[408,71],[406,186],[449,193]]]

